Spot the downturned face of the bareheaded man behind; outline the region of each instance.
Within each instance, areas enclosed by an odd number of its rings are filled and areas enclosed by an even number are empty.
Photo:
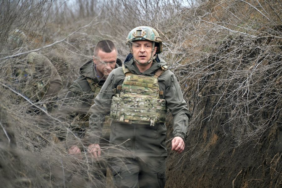
[[[99,50],[97,56],[93,55],[93,61],[96,65],[96,71],[98,76],[107,78],[110,72],[115,68],[118,58],[118,52],[112,50],[110,53]]]

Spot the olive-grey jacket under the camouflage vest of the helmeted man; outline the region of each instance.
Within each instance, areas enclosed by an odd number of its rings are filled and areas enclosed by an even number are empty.
[[[128,55],[124,65],[136,75],[154,76],[161,66],[166,65],[166,62],[160,58],[156,58],[150,69],[142,74],[133,62],[132,55]],[[111,100],[115,95],[115,90],[123,84],[125,75],[122,67],[113,70],[108,76],[105,84],[102,86],[100,93],[95,98],[95,104],[91,107],[89,113],[89,141],[91,143],[99,142],[99,137],[102,132],[103,117],[110,113]],[[172,113],[173,120],[173,136],[179,136],[183,139],[187,137],[188,120],[190,117],[187,109],[187,104],[183,99],[183,94],[180,85],[176,80],[175,75],[166,70],[158,77],[159,89],[163,91],[161,98],[167,102],[167,107]],[[117,151],[133,152],[136,155],[142,156],[167,156],[166,146],[166,126],[164,123],[155,123],[154,126],[142,124],[128,124],[112,121],[111,123],[111,144],[120,146],[120,150],[110,149],[109,152],[116,153]],[[114,150],[114,151],[113,151]]]

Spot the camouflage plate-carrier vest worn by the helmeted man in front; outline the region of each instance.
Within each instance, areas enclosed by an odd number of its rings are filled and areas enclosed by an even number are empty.
[[[123,65],[125,78],[119,92],[112,98],[110,118],[123,123],[150,124],[165,123],[167,107],[160,99],[158,77],[167,70],[160,67],[154,76],[134,75]]]

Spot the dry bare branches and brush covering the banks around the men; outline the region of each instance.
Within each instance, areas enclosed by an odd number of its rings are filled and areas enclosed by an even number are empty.
[[[162,36],[162,57],[177,75],[192,114],[186,152],[170,154],[168,166],[170,170],[185,161],[196,166],[184,169],[182,164],[177,172],[187,177],[177,183],[168,172],[167,187],[231,187],[235,177],[233,185],[240,181],[237,187],[281,186],[281,4],[280,0],[0,1],[1,186],[64,187],[60,179],[69,180],[62,173],[78,180],[87,177],[95,184],[92,171],[97,167],[89,157],[75,159],[66,154],[65,145],[50,139],[59,130],[71,134],[70,122],[44,109],[55,99],[27,99],[23,88],[30,83],[15,82],[13,70],[32,51],[47,56],[64,82],[60,103],[97,41],[114,41],[124,60],[126,35],[138,25],[152,26]],[[11,50],[7,40],[13,29],[24,31],[26,38]],[[169,118],[168,128],[171,131]],[[235,175],[224,169],[226,177],[219,167],[222,179],[213,184],[198,165],[212,161],[218,140],[224,140],[222,148],[234,148],[228,157],[251,145],[261,161],[252,168],[243,164],[242,174],[238,174],[241,167],[230,167]],[[270,150],[273,153],[266,155]],[[269,174],[254,181],[261,166]],[[194,173],[187,172],[190,168]]]

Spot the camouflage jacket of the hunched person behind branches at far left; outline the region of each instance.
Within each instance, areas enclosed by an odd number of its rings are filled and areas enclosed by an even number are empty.
[[[62,80],[51,61],[36,52],[18,59],[14,72],[19,91],[32,101],[52,100],[62,88]]]

